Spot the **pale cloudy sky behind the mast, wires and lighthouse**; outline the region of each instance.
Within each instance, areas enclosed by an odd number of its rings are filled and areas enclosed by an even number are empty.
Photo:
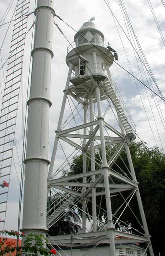
[[[4,14],[6,8],[8,7],[10,0],[1,0],[0,1],[0,20]],[[30,12],[34,11],[34,2],[31,1]],[[103,32],[105,41],[109,42],[111,47],[118,52],[118,64],[114,63],[110,69],[111,74],[119,88],[123,100],[125,101],[127,108],[130,112],[134,123],[136,124],[137,138],[139,141],[146,141],[149,147],[157,145],[159,148],[165,148],[165,136],[164,136],[164,127],[160,120],[160,110],[162,115],[165,113],[165,104],[164,101],[159,97],[152,95],[150,90],[146,88],[138,80],[142,81],[148,87],[151,86],[153,91],[157,92],[155,84],[152,82],[152,85],[147,84],[146,78],[143,74],[142,68],[139,71],[138,64],[134,55],[134,51],[131,47],[131,44],[128,40],[128,31],[126,24],[123,20],[123,15],[119,6],[120,3],[124,3],[125,8],[127,9],[127,14],[131,22],[134,32],[138,38],[138,42],[142,48],[142,51],[148,61],[150,69],[152,70],[153,76],[157,81],[157,85],[161,90],[161,93],[165,96],[165,48],[161,40],[161,36],[158,32],[157,25],[153,19],[153,14],[150,10],[149,1],[147,0],[124,0],[124,1],[115,1],[109,0],[108,2],[104,0],[55,0],[54,9],[57,16],[60,16],[63,21],[58,17],[54,17],[55,22],[58,24],[59,28],[64,35],[58,30],[54,25],[54,34],[53,34],[53,52],[54,58],[52,60],[52,76],[51,76],[51,95],[50,100],[52,101],[52,107],[50,108],[50,148],[49,148],[49,157],[51,157],[51,151],[54,143],[54,131],[57,128],[61,102],[63,97],[63,90],[65,88],[66,78],[68,74],[68,67],[65,63],[65,57],[67,53],[67,47],[69,43],[73,42],[73,37],[75,35],[75,30],[77,31],[84,22],[90,20],[92,16],[95,17],[93,21],[96,24],[96,27]],[[165,8],[161,3],[161,0],[150,0],[152,4],[154,14],[157,17],[157,22],[160,25],[161,32],[165,35]],[[6,17],[5,22],[10,21],[12,12],[15,8],[16,1],[13,1],[8,16]],[[113,15],[112,15],[112,13]],[[114,22],[115,20],[115,22]],[[1,24],[1,23],[0,23]],[[29,16],[28,28],[33,24],[33,14]],[[67,25],[68,24],[68,25]],[[73,29],[72,29],[73,28]],[[7,25],[2,26],[0,32],[0,46],[3,44],[3,38],[7,31]],[[125,33],[127,36],[125,36]],[[25,64],[23,66],[24,78],[23,78],[23,98],[26,102],[26,90],[27,90],[27,80],[28,80],[28,67],[26,63],[30,60],[31,52],[31,38],[32,31],[28,33],[27,36],[27,46],[25,51]],[[12,26],[8,30],[8,35],[6,40],[1,48],[1,60],[2,63],[8,58],[8,51],[11,42],[12,35]],[[67,41],[65,37],[67,38]],[[136,44],[137,46],[137,44]],[[139,52],[139,50],[138,50]],[[4,66],[4,75],[5,75]],[[127,71],[126,71],[127,70]],[[26,73],[25,73],[26,71]],[[138,79],[135,80],[130,73]],[[142,76],[141,76],[142,74]],[[3,90],[3,73],[2,69],[0,71],[0,81],[1,87]],[[136,82],[135,82],[136,81]],[[153,86],[153,87],[152,87]],[[158,92],[157,92],[158,93]],[[150,99],[150,101],[148,101]],[[1,101],[1,97],[0,97]],[[157,104],[155,104],[155,102]],[[158,105],[159,103],[159,105]],[[26,105],[26,104],[24,104]],[[145,109],[144,109],[145,108]],[[165,116],[164,116],[165,118]],[[150,123],[148,122],[150,120]],[[21,118],[18,118],[18,124],[16,127],[16,141],[19,156],[21,158],[22,150],[22,134],[18,132],[21,127]],[[151,130],[152,128],[152,130]],[[153,137],[154,134],[154,137]],[[18,211],[18,196],[19,196],[19,182],[17,175],[20,176],[20,167],[17,154],[14,153],[15,164],[18,169],[17,173],[15,168],[11,173],[11,181],[9,188],[9,197],[8,197],[8,211],[7,211],[7,220],[6,220],[6,229],[17,229],[17,211]]]

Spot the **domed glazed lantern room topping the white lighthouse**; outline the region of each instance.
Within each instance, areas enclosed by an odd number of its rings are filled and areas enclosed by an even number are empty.
[[[74,36],[74,42],[77,46],[91,43],[103,46],[104,35],[96,28],[96,25],[93,22],[87,21]]]

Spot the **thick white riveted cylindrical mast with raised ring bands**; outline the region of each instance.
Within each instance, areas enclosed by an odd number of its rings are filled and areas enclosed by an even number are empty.
[[[28,233],[46,234],[46,200],[50,102],[50,70],[54,0],[38,0],[31,92],[27,104],[28,131],[25,159],[23,228]]]

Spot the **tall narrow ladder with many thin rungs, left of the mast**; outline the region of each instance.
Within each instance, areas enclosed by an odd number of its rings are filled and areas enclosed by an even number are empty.
[[[29,0],[18,0],[0,112],[0,222],[5,224]],[[4,182],[5,181],[5,182]],[[6,185],[5,185],[6,184]],[[2,226],[1,226],[2,229]]]

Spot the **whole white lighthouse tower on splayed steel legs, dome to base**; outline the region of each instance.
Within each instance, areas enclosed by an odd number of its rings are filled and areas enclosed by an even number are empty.
[[[127,241],[128,244],[147,243],[150,255],[153,255],[129,151],[129,145],[135,139],[135,126],[111,78],[109,68],[114,59],[118,60],[117,52],[110,44],[104,44],[103,33],[91,21],[85,22],[75,34],[74,43],[69,46],[66,56],[69,72],[48,176],[48,187],[52,192],[61,192],[61,201],[59,206],[53,206],[55,211],[51,209],[47,227],[55,224],[64,212],[75,208],[82,212],[82,233],[74,237],[52,237],[59,246],[93,246],[95,251],[91,249],[88,255],[97,255],[97,252],[100,253],[97,246],[104,245],[105,254],[115,256],[115,245]],[[127,153],[128,174],[122,172],[120,167],[119,172],[113,169],[123,150]],[[65,160],[59,164],[62,153]],[[77,157],[82,160],[81,172],[71,173]],[[71,175],[60,177],[64,170],[71,170]],[[112,210],[113,198],[122,196],[125,191],[130,192],[130,196],[115,211]],[[121,232],[115,228],[134,196],[137,197],[144,235]],[[102,222],[107,220],[105,225],[100,223],[98,217],[98,197],[105,200],[106,218],[105,215],[102,218]],[[90,228],[87,218],[92,222]],[[99,225],[102,225],[101,230]],[[80,255],[80,252],[77,253]]]

